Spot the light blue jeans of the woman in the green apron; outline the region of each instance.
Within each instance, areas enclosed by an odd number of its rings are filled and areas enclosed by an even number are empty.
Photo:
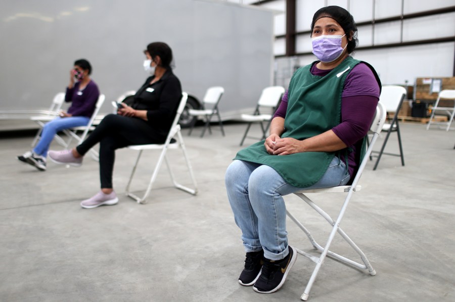
[[[335,156],[321,180],[306,189],[343,186],[349,179],[346,165]],[[283,196],[302,188],[287,184],[267,165],[242,160],[229,165],[225,185],[245,251],[263,249],[269,260],[285,258],[289,251]]]

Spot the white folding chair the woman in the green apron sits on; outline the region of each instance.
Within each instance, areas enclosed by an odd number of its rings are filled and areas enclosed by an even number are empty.
[[[317,276],[317,273],[319,272],[321,266],[323,265],[324,263],[324,260],[326,258],[326,256],[330,256],[332,258],[335,258],[336,260],[348,265],[348,266],[351,266],[353,268],[356,268],[356,269],[361,269],[361,270],[368,270],[368,272],[370,273],[370,275],[374,276],[376,275],[376,271],[373,269],[373,267],[371,266],[370,262],[368,261],[367,259],[367,256],[360,250],[360,248],[348,237],[348,235],[340,228],[340,223],[341,223],[341,220],[343,219],[343,215],[346,211],[346,207],[351,199],[351,196],[354,192],[358,192],[360,191],[361,189],[361,186],[357,185],[358,184],[358,181],[362,175],[362,171],[363,169],[365,168],[365,165],[367,164],[368,160],[369,160],[369,156],[371,154],[371,151],[372,151],[372,148],[374,146],[374,144],[376,143],[376,140],[378,139],[378,136],[379,136],[379,133],[381,132],[382,130],[382,126],[384,124],[384,121],[385,121],[385,118],[386,118],[386,110],[384,108],[384,105],[379,103],[378,104],[378,107],[376,109],[376,115],[373,119],[373,122],[370,126],[370,134],[373,134],[373,138],[370,142],[370,145],[367,149],[367,152],[365,154],[365,156],[363,157],[363,159],[360,161],[360,165],[358,167],[358,170],[357,170],[357,173],[354,177],[354,180],[352,181],[352,184],[350,186],[339,186],[339,187],[332,187],[332,188],[324,188],[324,189],[313,189],[313,190],[300,190],[298,192],[295,192],[294,194],[296,194],[298,197],[300,197],[302,200],[304,200],[309,206],[311,206],[317,213],[319,213],[320,215],[322,215],[322,217],[324,219],[327,220],[327,222],[332,226],[332,230],[330,232],[330,235],[329,235],[329,238],[325,244],[325,246],[321,246],[319,243],[317,243],[313,237],[311,236],[310,232],[303,226],[302,223],[300,223],[298,221],[298,219],[296,217],[294,217],[294,215],[292,215],[289,210],[286,210],[286,213],[288,215],[288,217],[306,234],[306,236],[308,237],[309,241],[311,242],[311,244],[313,245],[313,248],[315,250],[318,250],[321,252],[321,255],[319,257],[317,256],[314,256],[312,254],[309,254],[303,250],[300,250],[300,249],[296,249],[297,252],[305,257],[307,257],[309,260],[311,260],[312,262],[314,262],[316,264],[314,270],[313,270],[313,273],[311,274],[311,277],[306,285],[306,288],[303,292],[303,294],[301,295],[301,299],[306,301],[308,299],[308,295],[309,295],[309,292],[311,290],[311,287],[314,283],[314,280]],[[344,199],[344,203],[340,209],[340,212],[338,213],[338,217],[336,218],[336,220],[333,220],[330,215],[325,212],[320,206],[316,205],[315,202],[313,202],[311,199],[309,199],[306,194],[310,194],[310,193],[347,193],[345,199]],[[317,196],[316,196],[317,197]],[[334,253],[332,251],[329,250],[329,247],[330,245],[332,244],[332,241],[334,239],[334,236],[335,234],[338,233],[341,235],[341,237],[358,253],[358,255],[360,256],[361,260],[362,260],[362,264],[361,263],[357,263],[357,262],[354,262],[344,256],[341,256],[337,253]]]

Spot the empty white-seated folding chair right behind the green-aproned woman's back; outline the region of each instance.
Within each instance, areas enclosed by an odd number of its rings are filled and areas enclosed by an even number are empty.
[[[372,153],[378,154],[378,159],[373,167],[373,170],[376,170],[379,164],[379,160],[383,154],[391,155],[391,156],[398,156],[401,158],[401,165],[404,166],[404,154],[403,154],[403,146],[401,144],[401,134],[400,134],[400,126],[398,123],[398,111],[400,111],[401,105],[403,104],[403,100],[406,97],[406,89],[401,86],[397,85],[384,85],[382,87],[381,96],[379,97],[379,102],[384,105],[386,111],[388,113],[393,113],[393,118],[389,123],[384,123],[382,128],[383,131],[387,131],[386,137],[384,139],[384,143],[382,144],[380,151],[372,151]],[[398,147],[400,150],[399,154],[396,153],[388,153],[384,152],[385,146],[387,145],[387,141],[389,140],[390,133],[396,132],[397,139],[398,139]],[[370,156],[372,158],[372,156]]]

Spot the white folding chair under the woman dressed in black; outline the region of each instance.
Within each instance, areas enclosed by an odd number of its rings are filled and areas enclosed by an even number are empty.
[[[190,194],[193,194],[193,195],[196,195],[198,193],[196,179],[194,177],[193,169],[191,167],[190,160],[189,160],[188,155],[187,155],[187,149],[185,147],[185,143],[183,141],[183,137],[181,136],[181,133],[180,133],[180,125],[178,124],[178,119],[180,118],[181,112],[185,108],[185,105],[187,103],[187,99],[188,99],[188,94],[185,93],[185,92],[182,93],[180,104],[178,105],[178,108],[177,108],[177,114],[175,115],[174,121],[172,122],[172,126],[171,126],[171,128],[169,130],[169,134],[167,135],[167,138],[166,138],[166,141],[164,142],[164,144],[149,144],[149,145],[132,145],[132,146],[128,146],[128,148],[131,149],[131,150],[138,150],[139,154],[138,154],[138,158],[136,158],[136,161],[135,161],[134,166],[132,168],[131,175],[129,177],[128,184],[126,185],[125,191],[126,191],[126,194],[130,198],[134,199],[138,203],[146,203],[146,198],[149,196],[150,191],[152,190],[152,186],[153,186],[153,184],[154,184],[154,182],[156,180],[156,177],[158,175],[158,171],[160,170],[160,167],[161,167],[161,165],[163,163],[163,160],[166,162],[167,170],[169,171],[169,175],[171,177],[171,180],[172,180],[174,186],[177,189],[186,191],[186,192],[188,192]],[[176,136],[176,140],[174,139],[175,136]],[[185,161],[187,163],[188,170],[190,172],[190,177],[191,177],[191,180],[193,181],[194,189],[190,189],[188,187],[180,185],[180,184],[178,184],[175,181],[174,175],[173,175],[173,173],[171,171],[171,168],[170,168],[170,165],[169,165],[169,161],[167,160],[167,157],[166,157],[166,152],[167,152],[167,149],[177,149],[177,148],[180,148],[183,151],[183,154],[184,154],[184,157],[185,157]],[[142,152],[144,150],[161,150],[161,153],[160,153],[160,156],[158,157],[158,161],[157,161],[157,163],[155,165],[155,169],[153,170],[152,178],[150,179],[149,185],[147,187],[147,190],[146,190],[144,196],[143,197],[138,197],[138,196],[134,195],[133,193],[131,193],[129,188],[130,188],[133,176],[134,176],[134,172],[136,171],[136,167],[138,166],[139,159],[141,158]]]

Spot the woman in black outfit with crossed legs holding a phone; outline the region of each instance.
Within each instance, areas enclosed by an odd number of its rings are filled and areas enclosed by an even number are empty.
[[[181,99],[181,85],[172,73],[172,50],[163,42],[153,42],[144,51],[146,71],[153,73],[134,95],[130,106],[108,114],[95,131],[72,150],[49,151],[52,161],[80,166],[82,157],[100,143],[101,191],[83,200],[83,208],[113,205],[118,198],[112,186],[115,150],[128,145],[162,144],[166,140]]]

